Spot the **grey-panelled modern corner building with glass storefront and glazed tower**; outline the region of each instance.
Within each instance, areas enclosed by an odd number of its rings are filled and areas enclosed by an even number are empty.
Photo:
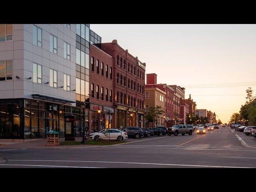
[[[0,139],[44,138],[52,129],[64,137],[68,114],[82,135],[90,38],[90,24],[0,24]]]

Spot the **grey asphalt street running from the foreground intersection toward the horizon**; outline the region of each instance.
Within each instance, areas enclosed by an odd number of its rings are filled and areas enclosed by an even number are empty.
[[[0,148],[0,168],[256,168],[256,149],[220,127],[206,134],[130,139],[117,146],[76,149]],[[5,161],[6,160],[6,161]]]

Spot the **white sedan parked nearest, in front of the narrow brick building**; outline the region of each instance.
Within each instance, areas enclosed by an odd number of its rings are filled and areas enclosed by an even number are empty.
[[[128,135],[126,132],[119,129],[105,129],[100,132],[89,134],[88,138],[89,140],[111,139],[122,141],[124,139],[128,139]]]

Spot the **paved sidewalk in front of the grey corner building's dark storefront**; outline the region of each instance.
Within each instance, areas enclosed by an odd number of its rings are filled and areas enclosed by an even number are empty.
[[[76,137],[76,141],[82,141],[82,137]],[[60,142],[65,138],[60,138]],[[65,145],[65,146],[46,146],[46,138],[29,142],[0,142],[0,148],[26,148],[26,149],[68,149],[68,148],[90,148],[95,145]]]

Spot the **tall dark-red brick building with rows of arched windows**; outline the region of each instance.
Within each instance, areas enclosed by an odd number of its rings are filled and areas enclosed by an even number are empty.
[[[102,43],[101,49],[112,56],[115,128],[143,127],[146,64],[117,44]]]

